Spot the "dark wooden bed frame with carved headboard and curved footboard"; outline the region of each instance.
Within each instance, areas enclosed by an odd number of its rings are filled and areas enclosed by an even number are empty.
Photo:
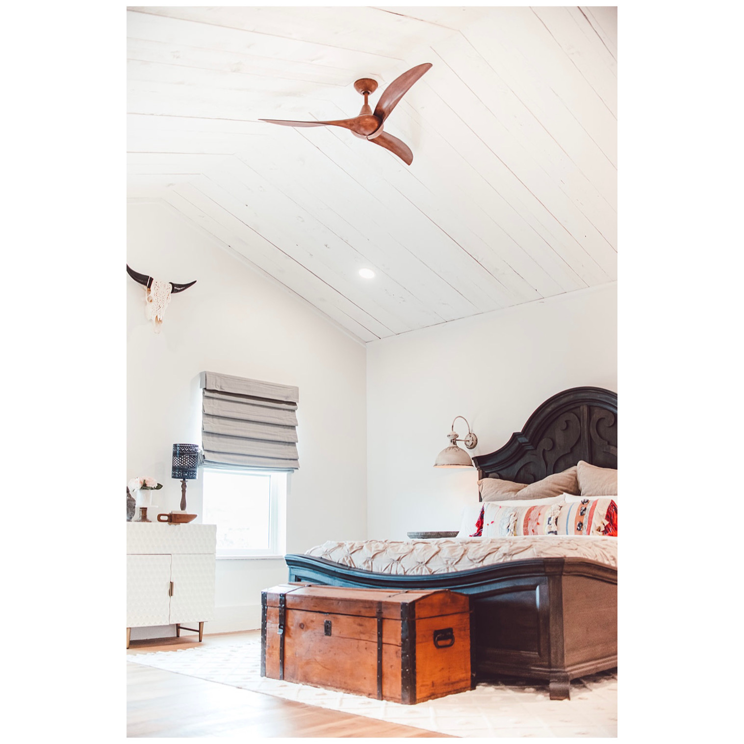
[[[545,401],[501,449],[473,458],[478,478],[533,483],[578,461],[618,466],[618,396],[571,388]],[[476,679],[547,680],[551,700],[570,681],[618,665],[618,571],[580,558],[519,560],[430,576],[391,576],[287,555],[290,581],[469,594]]]

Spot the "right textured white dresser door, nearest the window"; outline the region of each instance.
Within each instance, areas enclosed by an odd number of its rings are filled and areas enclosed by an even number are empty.
[[[214,554],[174,554],[171,559],[170,623],[211,620],[214,617]]]

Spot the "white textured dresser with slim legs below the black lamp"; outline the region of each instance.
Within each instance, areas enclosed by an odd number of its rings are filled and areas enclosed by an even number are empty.
[[[214,617],[217,525],[126,523],[126,647],[132,628],[199,632]],[[185,623],[199,623],[187,628]]]

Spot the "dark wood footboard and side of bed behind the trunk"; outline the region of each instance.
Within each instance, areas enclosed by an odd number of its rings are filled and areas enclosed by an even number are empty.
[[[580,558],[539,558],[452,574],[393,576],[288,555],[290,581],[376,589],[451,589],[471,597],[477,679],[542,679],[551,699],[569,682],[618,665],[618,571]]]

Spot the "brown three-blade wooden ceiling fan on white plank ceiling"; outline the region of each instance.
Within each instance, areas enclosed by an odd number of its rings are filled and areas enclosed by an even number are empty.
[[[403,162],[410,165],[414,160],[411,148],[405,142],[399,140],[388,132],[383,132],[383,124],[391,111],[397,106],[408,89],[432,66],[431,62],[417,65],[404,72],[385,88],[377,101],[374,112],[367,103],[369,94],[377,89],[376,80],[371,77],[362,77],[354,83],[354,89],[365,97],[365,104],[359,112],[359,116],[353,119],[338,119],[336,121],[289,121],[286,119],[259,119],[268,121],[269,124],[282,124],[283,126],[342,126],[350,129],[355,137],[369,140],[380,147],[385,147],[391,153],[397,155]]]

